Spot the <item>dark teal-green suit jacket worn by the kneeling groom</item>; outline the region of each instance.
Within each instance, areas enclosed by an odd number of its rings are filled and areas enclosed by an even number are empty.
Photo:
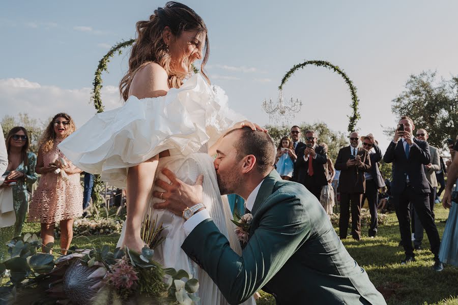
[[[251,214],[242,256],[210,219],[198,224],[182,245],[229,303],[239,304],[263,289],[281,305],[386,304],[304,186],[282,180],[273,170]]]

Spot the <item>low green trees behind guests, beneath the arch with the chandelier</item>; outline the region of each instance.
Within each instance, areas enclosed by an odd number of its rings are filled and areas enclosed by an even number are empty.
[[[348,146],[349,141],[347,136],[341,132],[335,132],[326,125],[326,123],[320,122],[316,124],[307,124],[302,123],[299,125],[302,132],[302,137],[305,137],[306,130],[313,130],[316,132],[318,137],[318,144],[326,143],[328,144],[328,158],[335,162],[337,159],[337,154],[339,153],[339,149]],[[274,140],[275,145],[278,145],[280,139],[285,136],[290,136],[291,127],[282,126],[282,127],[274,127],[274,126],[266,126],[266,129],[269,131],[270,136]]]

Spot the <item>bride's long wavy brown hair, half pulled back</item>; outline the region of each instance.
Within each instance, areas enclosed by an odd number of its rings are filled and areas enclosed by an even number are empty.
[[[170,53],[162,39],[166,26],[170,28],[170,32],[176,37],[179,37],[183,31],[198,31],[199,34],[205,35],[204,55],[200,73],[209,81],[204,72],[210,52],[208,31],[204,20],[184,4],[167,2],[163,8],[155,10],[154,15],[151,15],[149,20],[142,20],[136,23],[137,38],[130,53],[129,71],[119,83],[119,90],[124,101],[128,98],[130,83],[135,73],[152,62],[157,63],[167,72],[167,83],[170,88],[179,88],[183,84],[183,79],[187,75],[177,72],[171,65]],[[192,71],[190,63],[188,63],[188,71]]]

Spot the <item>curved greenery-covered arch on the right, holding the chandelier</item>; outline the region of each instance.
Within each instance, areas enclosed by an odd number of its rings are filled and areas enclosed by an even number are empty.
[[[350,89],[350,94],[352,96],[352,103],[350,104],[350,107],[352,108],[352,115],[348,116],[350,119],[350,122],[348,124],[348,132],[353,132],[356,131],[356,123],[360,119],[360,114],[358,112],[358,104],[359,104],[359,99],[358,96],[356,95],[356,87],[353,85],[353,82],[350,80],[350,78],[347,76],[347,74],[341,70],[338,66],[334,66],[333,64],[326,62],[325,60],[307,60],[306,62],[303,62],[302,64],[297,64],[294,65],[293,68],[288,71],[283,78],[281,79],[281,84],[278,86],[278,89],[281,90],[283,88],[283,85],[287,82],[287,80],[296,72],[299,70],[299,68],[304,69],[305,66],[307,65],[313,65],[317,67],[325,67],[329,70],[332,70],[336,73],[338,73],[342,78],[344,78],[344,81],[347,83],[349,89]]]

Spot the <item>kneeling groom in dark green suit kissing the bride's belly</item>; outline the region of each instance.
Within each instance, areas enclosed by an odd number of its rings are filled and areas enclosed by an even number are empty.
[[[189,186],[164,169],[171,184],[158,181],[165,192],[153,195],[165,199],[155,208],[183,216],[188,236],[182,249],[229,303],[239,304],[263,289],[282,305],[386,304],[342,245],[317,198],[273,170],[275,145],[267,133],[236,129],[218,148],[214,164],[221,194],[242,196],[253,216],[242,256],[198,205],[202,176]]]

